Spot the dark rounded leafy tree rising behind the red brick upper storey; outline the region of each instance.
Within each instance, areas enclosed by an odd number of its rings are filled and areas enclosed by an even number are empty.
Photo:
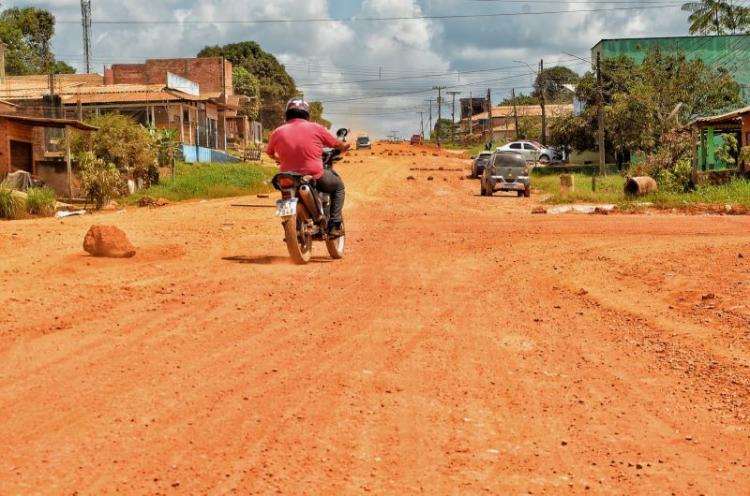
[[[198,57],[225,57],[234,67],[242,67],[254,75],[259,82],[263,103],[260,110],[263,126],[272,129],[284,121],[285,104],[297,95],[297,86],[276,57],[265,52],[258,43],[243,41],[207,46],[198,53]]]

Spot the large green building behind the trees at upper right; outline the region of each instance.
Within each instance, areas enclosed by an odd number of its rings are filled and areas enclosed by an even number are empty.
[[[601,40],[591,49],[591,59],[596,64],[598,55],[602,59],[624,55],[641,63],[653,48],[663,53],[681,52],[689,60],[700,59],[715,69],[727,69],[739,83],[742,98],[750,103],[750,35]]]

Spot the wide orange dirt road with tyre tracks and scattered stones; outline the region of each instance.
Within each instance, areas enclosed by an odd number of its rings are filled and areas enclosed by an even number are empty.
[[[341,262],[236,199],[0,223],[0,494],[748,494],[750,219],[412,153],[340,167]]]

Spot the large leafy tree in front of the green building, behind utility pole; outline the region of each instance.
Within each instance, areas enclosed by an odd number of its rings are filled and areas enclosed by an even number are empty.
[[[643,64],[625,57],[602,63],[605,139],[618,154],[653,152],[666,131],[690,119],[742,105],[739,85],[725,70],[713,70],[683,54],[652,50]],[[582,115],[560,117],[550,127],[553,141],[577,149],[595,148],[598,91],[593,73],[578,84],[587,104]]]

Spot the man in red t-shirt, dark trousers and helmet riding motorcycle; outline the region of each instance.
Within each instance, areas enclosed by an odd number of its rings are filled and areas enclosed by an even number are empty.
[[[343,234],[344,181],[333,169],[323,168],[323,148],[344,153],[350,145],[310,122],[310,106],[301,98],[292,98],[286,106],[286,124],[271,134],[266,153],[281,164],[281,172],[312,176],[318,191],[331,195],[328,235],[337,237]]]

